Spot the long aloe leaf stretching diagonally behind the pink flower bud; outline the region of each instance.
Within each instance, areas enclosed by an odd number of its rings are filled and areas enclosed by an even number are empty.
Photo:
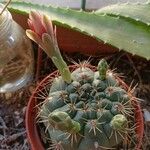
[[[150,27],[134,19],[26,2],[12,2],[9,8],[20,14],[37,10],[48,15],[54,23],[70,27],[119,49],[150,59]]]

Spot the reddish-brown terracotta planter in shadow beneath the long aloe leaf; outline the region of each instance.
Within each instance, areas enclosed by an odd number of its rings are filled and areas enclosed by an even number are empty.
[[[20,15],[12,13],[14,20],[24,29],[29,28],[27,25],[28,15]],[[96,39],[84,35],[78,31],[57,26],[57,39],[59,48],[62,51],[73,53],[80,52],[86,55],[108,55],[117,51],[114,48],[103,42],[98,42]]]

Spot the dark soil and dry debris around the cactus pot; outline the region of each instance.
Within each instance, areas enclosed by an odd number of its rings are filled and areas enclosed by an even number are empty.
[[[135,88],[134,92],[141,102],[143,110],[150,112],[150,61],[133,57],[125,52],[117,52],[109,56],[89,57],[82,54],[63,54],[68,64],[89,60],[96,65],[100,58],[105,57],[111,69],[119,73],[123,80]],[[44,54],[43,63],[38,75],[39,81],[56,68]],[[37,76],[36,76],[37,79]],[[39,82],[38,81],[38,82]],[[36,81],[15,93],[0,94],[0,150],[29,150],[30,146],[25,130],[25,110]],[[149,116],[150,117],[150,116]],[[145,120],[143,150],[150,149],[150,120]]]

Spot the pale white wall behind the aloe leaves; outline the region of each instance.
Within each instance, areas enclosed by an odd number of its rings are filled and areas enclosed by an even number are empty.
[[[54,6],[80,8],[81,0],[24,0],[28,2],[34,2],[39,4],[50,4]],[[96,9],[109,4],[115,4],[118,2],[146,2],[147,0],[87,0],[86,8]]]

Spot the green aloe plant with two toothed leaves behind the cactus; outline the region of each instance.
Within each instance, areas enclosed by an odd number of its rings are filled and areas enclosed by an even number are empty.
[[[80,31],[119,50],[150,59],[149,3],[118,4],[95,12],[19,1],[13,1],[9,8],[19,14],[28,14],[32,8],[48,15],[57,25]]]

